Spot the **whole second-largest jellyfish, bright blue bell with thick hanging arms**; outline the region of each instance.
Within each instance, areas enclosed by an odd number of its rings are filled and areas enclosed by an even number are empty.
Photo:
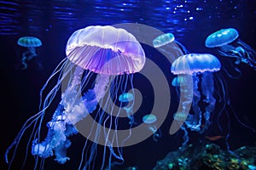
[[[189,65],[189,67],[185,66]],[[215,107],[213,96],[214,81],[212,72],[219,71],[220,62],[212,54],[185,54],[172,63],[171,71],[175,75],[192,75],[194,82],[194,95],[192,107],[194,115],[189,114],[185,121],[191,130],[203,133],[210,125],[210,116]],[[201,87],[201,91],[199,90]],[[204,102],[201,108],[199,102]],[[202,111],[204,113],[202,113]],[[201,122],[204,120],[202,129]]]

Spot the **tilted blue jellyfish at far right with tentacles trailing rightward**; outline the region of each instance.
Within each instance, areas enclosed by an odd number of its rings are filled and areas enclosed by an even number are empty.
[[[238,37],[235,28],[221,29],[208,36],[205,44],[207,48],[218,48],[218,54],[224,57],[235,58],[236,65],[246,63],[255,70],[256,52]]]

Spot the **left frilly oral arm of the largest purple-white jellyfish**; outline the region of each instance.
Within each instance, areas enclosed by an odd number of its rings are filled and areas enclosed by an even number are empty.
[[[61,94],[61,102],[52,120],[47,124],[49,131],[46,139],[41,143],[38,143],[38,139],[33,141],[33,156],[46,158],[55,154],[55,161],[61,164],[69,160],[66,152],[71,142],[67,138],[74,133],[78,133],[74,124],[89,114],[85,108],[84,100],[78,96],[78,94],[81,94],[80,77],[83,73],[80,69],[79,67],[76,68],[72,82],[67,85],[65,92]],[[90,104],[96,105],[96,103]],[[96,108],[96,106],[93,106],[93,108]]]

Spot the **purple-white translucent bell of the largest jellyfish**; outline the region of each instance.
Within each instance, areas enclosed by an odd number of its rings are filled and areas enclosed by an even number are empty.
[[[75,31],[67,42],[66,54],[84,70],[107,75],[135,73],[145,64],[145,54],[137,39],[113,26],[88,26]]]

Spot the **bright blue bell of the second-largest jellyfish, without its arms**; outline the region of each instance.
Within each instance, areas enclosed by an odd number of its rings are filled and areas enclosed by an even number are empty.
[[[177,58],[171,67],[173,74],[202,73],[205,71],[219,71],[221,64],[212,54],[185,54]]]

